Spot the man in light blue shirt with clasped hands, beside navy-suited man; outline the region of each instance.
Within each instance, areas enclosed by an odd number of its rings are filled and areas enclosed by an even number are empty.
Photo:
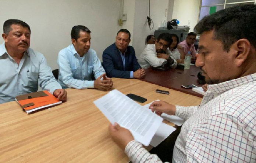
[[[90,30],[82,25],[71,30],[72,44],[58,53],[58,82],[63,88],[110,90],[107,78],[96,52],[90,48]],[[92,75],[95,81],[92,80]]]

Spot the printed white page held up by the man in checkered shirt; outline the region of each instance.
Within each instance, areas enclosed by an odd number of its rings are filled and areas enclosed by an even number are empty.
[[[134,139],[145,146],[149,145],[163,121],[163,118],[143,108],[116,89],[93,103],[112,124],[117,122],[130,130]]]

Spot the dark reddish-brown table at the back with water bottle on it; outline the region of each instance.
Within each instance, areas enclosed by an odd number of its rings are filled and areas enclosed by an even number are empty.
[[[178,90],[180,92],[188,93],[193,96],[203,97],[203,95],[194,92],[192,89],[185,89],[181,85],[199,85],[198,73],[200,68],[190,66],[189,70],[170,69],[166,71],[146,69],[146,75],[140,80],[150,82],[152,84],[160,85],[166,88]]]

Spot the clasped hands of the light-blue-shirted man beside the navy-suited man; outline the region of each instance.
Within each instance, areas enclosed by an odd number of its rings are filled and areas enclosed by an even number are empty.
[[[104,73],[94,81],[93,85],[94,88],[97,88],[99,90],[111,90],[113,86],[113,81],[111,80],[111,78],[107,78],[106,74]]]

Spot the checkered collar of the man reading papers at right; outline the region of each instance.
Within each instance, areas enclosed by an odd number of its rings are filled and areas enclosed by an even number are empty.
[[[248,84],[250,82],[256,81],[256,73],[250,74],[241,78],[232,79],[230,81],[222,82],[219,84],[208,85],[208,91],[215,95],[220,95],[230,89],[236,88]]]

